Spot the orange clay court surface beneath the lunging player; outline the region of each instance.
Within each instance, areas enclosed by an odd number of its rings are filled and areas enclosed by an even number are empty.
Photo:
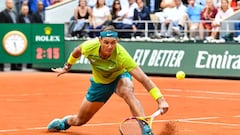
[[[89,86],[91,74],[68,73],[56,77],[52,72],[0,73],[1,135],[119,135],[118,125],[130,116],[127,105],[116,95],[82,127],[71,127],[60,133],[49,133],[54,118],[75,114]],[[153,123],[155,135],[172,122],[176,135],[239,135],[239,80],[177,80],[151,77],[170,104],[167,114]],[[135,94],[147,114],[157,104],[134,80]]]

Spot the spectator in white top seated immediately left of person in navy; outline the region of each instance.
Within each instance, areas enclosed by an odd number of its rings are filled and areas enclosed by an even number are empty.
[[[131,38],[132,37],[132,29],[133,29],[133,15],[134,9],[138,7],[135,3],[135,0],[128,0],[128,8],[122,9],[120,16],[123,16],[122,25],[118,28],[121,29],[122,32],[119,32],[120,38]]]

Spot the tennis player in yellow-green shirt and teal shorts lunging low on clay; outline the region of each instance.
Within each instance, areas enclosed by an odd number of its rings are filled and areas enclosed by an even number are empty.
[[[64,67],[52,70],[60,76],[68,72],[82,55],[89,60],[93,77],[90,79],[91,85],[80,110],[76,115],[54,119],[49,123],[48,131],[66,130],[71,126],[81,126],[87,123],[113,93],[124,99],[132,115],[145,116],[143,106],[134,95],[132,76],[157,101],[158,108],[163,109],[163,113],[167,112],[168,103],[162,93],[118,43],[118,33],[113,26],[104,27],[99,38],[85,41],[74,48]]]

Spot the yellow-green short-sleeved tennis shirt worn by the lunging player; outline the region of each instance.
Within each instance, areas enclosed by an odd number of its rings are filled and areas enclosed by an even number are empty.
[[[108,59],[99,56],[100,42],[98,39],[85,41],[80,45],[82,54],[89,60],[93,79],[96,83],[109,84],[120,74],[133,70],[137,64],[129,53],[117,44]]]

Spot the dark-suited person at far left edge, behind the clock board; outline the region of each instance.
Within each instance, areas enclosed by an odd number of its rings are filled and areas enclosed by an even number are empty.
[[[6,0],[6,8],[0,12],[0,23],[18,23],[17,13],[13,10],[13,0]],[[11,64],[11,70],[22,70],[22,64]],[[0,64],[0,71],[4,71],[4,64]]]

